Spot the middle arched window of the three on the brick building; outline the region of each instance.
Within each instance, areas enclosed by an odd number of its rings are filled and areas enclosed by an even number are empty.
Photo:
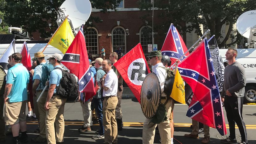
[[[123,53],[126,53],[126,34],[125,29],[122,27],[116,27],[112,30],[112,51],[115,52],[118,47],[122,49]]]

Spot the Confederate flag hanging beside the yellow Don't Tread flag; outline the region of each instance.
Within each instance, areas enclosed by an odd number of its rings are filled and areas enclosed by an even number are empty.
[[[83,36],[83,26],[64,54],[61,63],[70,70],[70,73],[78,77],[79,91],[85,93],[85,101],[96,94]]]

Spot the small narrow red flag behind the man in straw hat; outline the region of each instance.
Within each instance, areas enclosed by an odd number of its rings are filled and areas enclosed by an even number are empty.
[[[23,43],[20,54],[22,55],[21,63],[23,64],[23,66],[25,66],[28,70],[31,70],[31,58],[29,55],[27,43],[25,41]]]

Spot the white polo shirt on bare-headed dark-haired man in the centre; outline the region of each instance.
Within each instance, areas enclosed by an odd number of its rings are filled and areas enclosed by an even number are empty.
[[[113,69],[109,70],[107,73],[104,86],[109,89],[107,91],[103,90],[103,97],[117,96],[118,78]]]

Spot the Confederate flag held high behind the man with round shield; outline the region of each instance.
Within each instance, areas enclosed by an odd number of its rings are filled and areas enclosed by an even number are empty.
[[[176,60],[178,60],[184,53],[186,53],[187,50],[188,49],[181,35],[179,34],[175,26],[171,24],[164,40],[163,47],[161,49],[162,55],[168,55],[171,59],[172,64],[174,64]],[[183,60],[188,55],[189,52],[186,53],[186,55],[182,57],[181,60]]]

